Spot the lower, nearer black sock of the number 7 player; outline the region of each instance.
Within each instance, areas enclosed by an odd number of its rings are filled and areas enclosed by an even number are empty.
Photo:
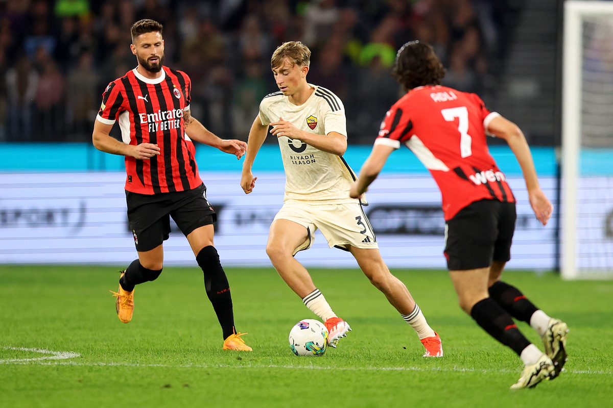
[[[512,317],[491,298],[477,302],[470,311],[470,316],[485,332],[505,346],[511,347],[517,355],[521,355],[531,344],[519,331]]]

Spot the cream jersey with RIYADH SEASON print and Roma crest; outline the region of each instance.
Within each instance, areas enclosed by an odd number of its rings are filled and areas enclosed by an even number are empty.
[[[326,88],[309,85],[315,90],[300,106],[289,102],[281,91],[265,96],[260,103],[262,125],[282,117],[300,130],[316,135],[338,132],[347,136],[345,107],[341,100]],[[278,141],[286,174],[283,201],[358,201],[349,197],[349,187],[356,175],[343,157],[287,136],[280,136]]]

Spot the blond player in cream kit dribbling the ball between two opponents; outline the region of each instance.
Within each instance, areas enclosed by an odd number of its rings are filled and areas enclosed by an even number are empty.
[[[351,330],[330,308],[294,255],[311,247],[319,229],[330,248],[351,252],[360,269],[403,319],[426,349],[424,357],[443,355],[441,339],[430,328],[405,284],[387,269],[363,202],[349,197],[355,174],[343,159],[347,149],[345,108],[328,89],[309,84],[311,51],[301,42],[286,42],[273,53],[270,66],[280,91],[260,103],[247,143],[241,187],[251,193],[257,177],[251,168],[268,127],[277,137],[286,174],[284,204],[270,225],[266,252],[276,271],[309,310],[324,321],[328,343]]]

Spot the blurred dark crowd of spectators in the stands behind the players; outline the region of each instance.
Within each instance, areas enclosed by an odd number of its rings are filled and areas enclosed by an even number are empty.
[[[432,44],[447,69],[444,84],[487,94],[513,4],[0,0],[0,142],[91,140],[102,91],[137,64],[130,26],[151,18],[164,24],[164,65],[191,77],[192,116],[212,132],[246,140],[260,100],[277,89],[273,50],[300,40],[312,51],[308,81],[345,103],[349,143],[370,144],[400,95],[389,69],[403,43]]]

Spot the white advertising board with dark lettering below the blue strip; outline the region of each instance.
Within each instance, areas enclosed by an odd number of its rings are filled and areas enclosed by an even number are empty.
[[[261,172],[253,193],[239,186],[240,172],[202,172],[208,200],[218,212],[215,247],[226,266],[271,267],[268,227],[283,202],[284,174]],[[128,229],[120,172],[0,174],[0,263],[116,264],[136,258]],[[555,225],[543,227],[528,204],[523,179],[509,179],[518,200],[509,268],[551,269]],[[541,185],[553,198],[555,179]],[[365,212],[383,258],[392,268],[446,267],[440,193],[430,177],[382,174],[368,192]],[[175,226],[164,242],[166,265],[196,266]],[[357,267],[351,254],[329,248],[321,234],[296,256],[307,267]]]

